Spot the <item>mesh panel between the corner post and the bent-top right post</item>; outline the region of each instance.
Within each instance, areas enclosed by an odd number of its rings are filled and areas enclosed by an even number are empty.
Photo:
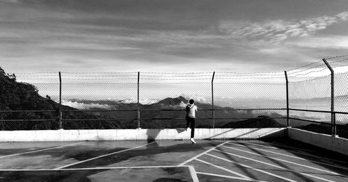
[[[289,107],[296,109],[290,110],[292,127],[331,134],[331,113],[313,112],[331,110],[330,74],[322,60],[288,72]]]

